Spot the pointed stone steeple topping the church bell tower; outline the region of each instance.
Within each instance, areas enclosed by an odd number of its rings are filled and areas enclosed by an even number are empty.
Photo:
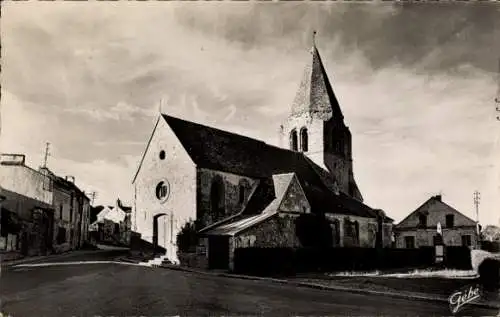
[[[292,116],[309,113],[312,117],[325,121],[332,116],[343,120],[344,116],[316,47],[316,31],[313,33],[311,55],[312,59],[305,67],[292,104]]]

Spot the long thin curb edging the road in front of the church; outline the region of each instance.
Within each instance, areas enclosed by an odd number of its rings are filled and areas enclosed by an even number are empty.
[[[191,269],[191,268],[186,268],[186,267],[180,267],[180,266],[175,266],[175,265],[164,265],[164,264],[156,265],[156,264],[153,264],[152,267],[162,268],[162,269],[170,269],[170,270],[174,270],[174,271],[196,273],[196,274],[201,274],[201,275],[210,275],[210,276],[219,276],[219,277],[226,277],[226,278],[241,279],[241,280],[268,281],[268,282],[273,282],[273,283],[278,283],[278,284],[288,284],[288,285],[294,285],[294,286],[298,286],[298,287],[307,287],[307,288],[319,289],[319,290],[325,290],[325,291],[341,291],[341,292],[349,292],[349,293],[361,294],[361,295],[389,296],[389,297],[394,297],[394,298],[420,300],[420,301],[427,301],[427,302],[440,302],[440,303],[448,304],[448,299],[442,298],[442,297],[422,296],[422,295],[418,295],[418,294],[382,292],[382,291],[355,289],[355,288],[347,288],[347,287],[340,287],[340,286],[326,286],[326,285],[315,284],[315,283],[294,282],[294,281],[290,281],[290,280],[276,279],[276,278],[270,278],[270,277],[238,275],[238,274],[218,273],[218,272],[206,272],[206,271],[201,271],[201,270],[196,270],[196,269]],[[469,303],[468,306],[478,307],[478,308],[486,308],[486,309],[500,309],[500,304],[491,305],[491,304],[486,304],[486,303]]]

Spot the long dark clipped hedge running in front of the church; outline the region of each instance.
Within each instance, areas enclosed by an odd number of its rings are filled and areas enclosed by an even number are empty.
[[[428,268],[435,263],[434,248],[239,248],[234,271],[256,275],[293,275],[305,272],[369,271]],[[446,250],[445,266],[470,267],[468,248]]]

